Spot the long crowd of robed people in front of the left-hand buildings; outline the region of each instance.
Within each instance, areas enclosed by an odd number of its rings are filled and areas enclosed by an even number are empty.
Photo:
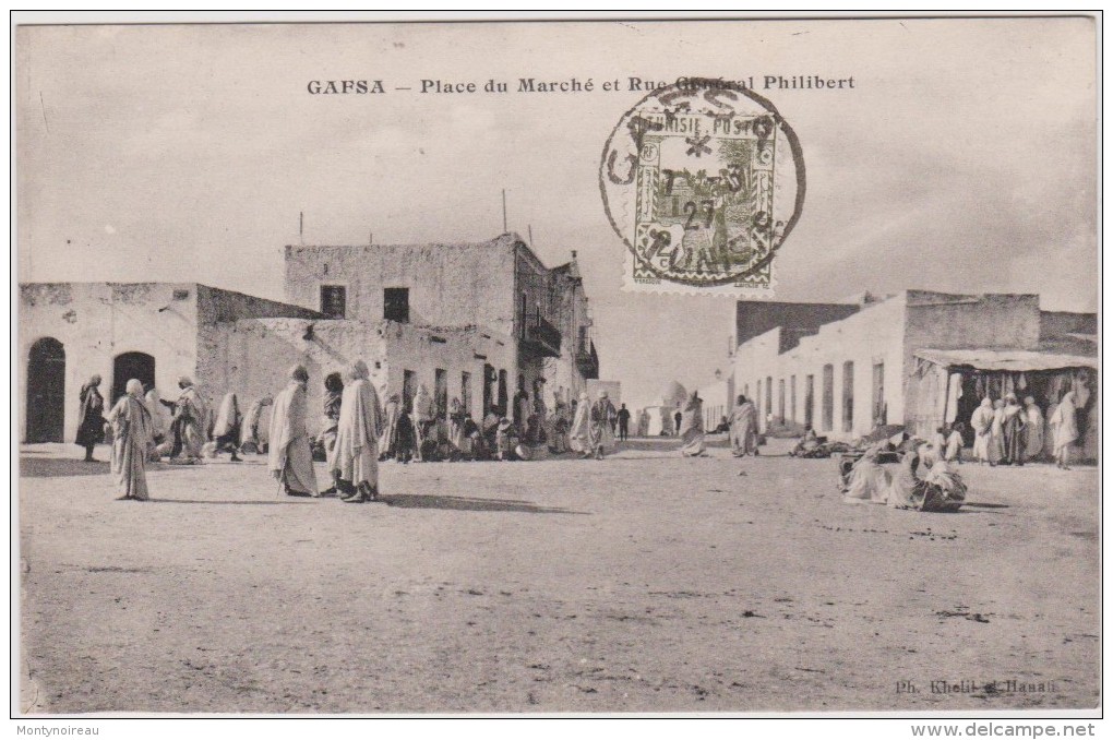
[[[626,404],[615,408],[607,391],[594,399],[581,393],[571,404],[558,395],[552,413],[543,403],[520,403],[525,395],[520,393],[514,411],[523,423],[512,422],[500,406],[476,422],[460,398],[439,414],[424,385],[407,403],[396,393],[383,403],[363,361],[354,363],[346,377],[341,373],[325,377],[323,420],[314,435],[307,383],[308,372],[297,365],[280,393],[256,399],[246,414],[235,393],[225,394],[213,414],[189,377],[179,378],[175,401],[165,401],[157,388],[131,379],[106,417],[101,378],[93,375],[81,388],[76,441],[87,462],[96,462],[97,444],[111,443],[111,471],[121,500],[148,497],[145,470],[149,462],[166,458],[170,464],[199,464],[224,453],[232,462],[240,462],[240,455],[256,453],[267,455],[268,468],[285,495],[335,495],[362,503],[378,497],[378,463],[385,461],[530,460],[542,448],[602,460],[615,437],[629,437],[630,412]],[[267,407],[272,408],[268,425],[263,424]],[[323,491],[318,491],[314,461],[327,463],[331,480]]]

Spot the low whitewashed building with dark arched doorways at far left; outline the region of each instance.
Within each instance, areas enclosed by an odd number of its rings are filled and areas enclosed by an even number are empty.
[[[20,438],[72,441],[78,393],[100,375],[106,403],[130,378],[177,395],[186,375],[213,388],[224,377],[213,349],[240,318],[305,318],[317,312],[197,283],[30,283],[19,286]]]

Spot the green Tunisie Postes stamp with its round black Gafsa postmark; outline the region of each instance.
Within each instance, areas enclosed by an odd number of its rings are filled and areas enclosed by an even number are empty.
[[[681,78],[618,122],[599,187],[628,250],[626,289],[771,297],[777,250],[804,205],[804,156],[761,96]]]

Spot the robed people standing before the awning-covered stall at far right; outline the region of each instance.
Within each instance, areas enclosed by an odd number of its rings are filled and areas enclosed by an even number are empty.
[[[956,425],[958,426],[958,425]],[[1052,450],[1057,467],[1070,470],[1071,446],[1078,438],[1077,408],[1074,392],[1068,391],[1051,417]],[[1023,465],[1038,460],[1046,445],[1044,415],[1035,398],[1024,398],[1022,407],[1016,395],[982,399],[971,416],[974,432],[974,460],[989,465]]]

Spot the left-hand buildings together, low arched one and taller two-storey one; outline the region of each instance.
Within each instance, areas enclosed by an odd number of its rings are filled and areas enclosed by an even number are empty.
[[[480,244],[289,246],[289,303],[195,283],[20,286],[20,434],[71,440],[92,374],[106,399],[129,378],[177,395],[191,377],[209,401],[246,407],[309,371],[311,431],[324,378],[365,361],[385,397],[424,385],[437,412],[512,416],[579,395],[599,375],[588,297],[574,259],[546,268],[513,234]],[[522,403],[522,402],[526,403]]]

